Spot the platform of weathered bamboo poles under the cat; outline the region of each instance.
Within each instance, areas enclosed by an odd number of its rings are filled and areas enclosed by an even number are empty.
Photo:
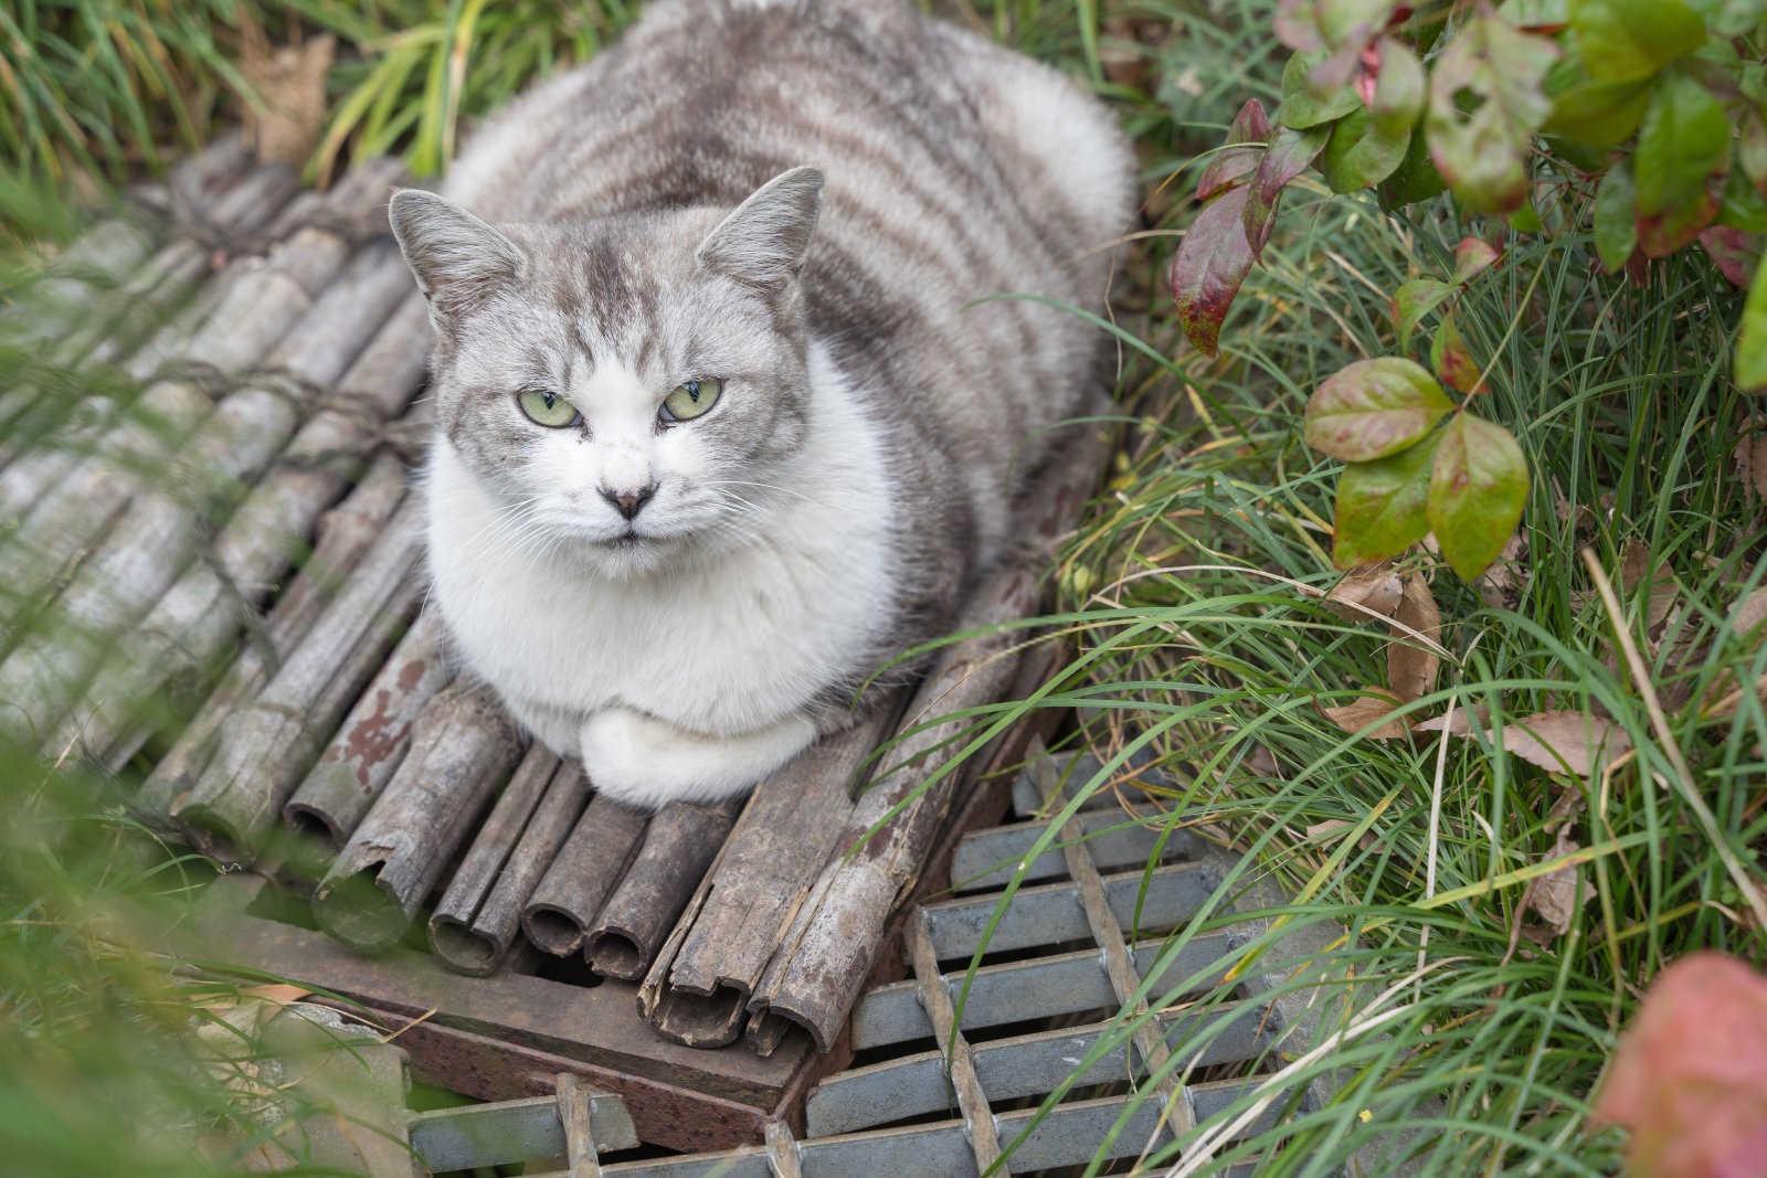
[[[108,770],[150,756],[136,811],[217,860],[288,867],[322,848],[313,911],[346,945],[428,933],[451,968],[493,975],[527,943],[641,982],[643,1016],[679,1042],[746,1028],[770,1053],[804,1028],[830,1049],[961,797],[947,761],[997,735],[981,726],[1025,636],[995,623],[1035,611],[1034,572],[1090,491],[1099,431],[1071,429],[1025,498],[1025,560],[982,588],[965,627],[981,632],[912,698],[747,800],[633,812],[456,682],[421,615],[410,464],[429,332],[385,237],[398,168],[295,200],[286,173],[233,147],[193,175],[214,219],[262,249],[207,281],[193,260],[214,251],[177,228],[136,249],[138,274],[175,277],[113,320],[131,327],[69,348],[120,362],[140,392],[0,456],[18,521],[4,590],[30,604],[7,611],[0,733]],[[129,265],[95,261],[111,263]],[[168,699],[187,703],[143,708]]]

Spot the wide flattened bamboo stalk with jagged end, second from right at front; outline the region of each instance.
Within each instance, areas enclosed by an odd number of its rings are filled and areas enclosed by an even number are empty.
[[[643,1016],[689,1047],[735,1042],[747,1001],[853,812],[848,786],[889,731],[884,706],[755,788],[638,991]]]

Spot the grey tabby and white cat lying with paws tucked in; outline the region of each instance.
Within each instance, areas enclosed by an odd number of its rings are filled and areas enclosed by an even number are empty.
[[[1103,334],[990,295],[1101,306],[1131,171],[1090,97],[898,0],[664,0],[488,122],[392,201],[468,669],[634,805],[852,722],[1101,383]]]

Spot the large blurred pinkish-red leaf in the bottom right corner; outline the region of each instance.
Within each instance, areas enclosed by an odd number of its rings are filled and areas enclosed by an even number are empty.
[[[1626,1173],[1730,1178],[1767,1159],[1767,977],[1700,950],[1650,982],[1596,1093]]]

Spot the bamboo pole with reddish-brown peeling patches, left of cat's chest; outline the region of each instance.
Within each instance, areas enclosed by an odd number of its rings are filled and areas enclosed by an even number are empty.
[[[442,618],[422,613],[288,798],[283,823],[341,848],[410,751],[412,724],[452,678]]]

